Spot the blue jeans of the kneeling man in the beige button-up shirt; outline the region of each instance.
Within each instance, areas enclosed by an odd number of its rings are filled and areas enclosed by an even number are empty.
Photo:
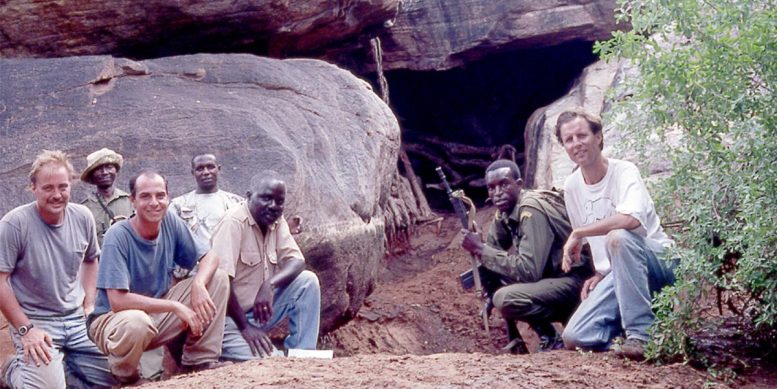
[[[253,311],[246,315],[248,324],[270,331],[284,317],[289,317],[289,335],[283,342],[288,350],[301,348],[315,350],[318,343],[318,327],[321,319],[321,289],[315,273],[304,270],[285,288],[273,292],[272,318],[264,325],[254,319]],[[259,356],[251,352],[251,347],[240,334],[232,318],[227,317],[224,324],[224,343],[221,359],[247,361]]]

